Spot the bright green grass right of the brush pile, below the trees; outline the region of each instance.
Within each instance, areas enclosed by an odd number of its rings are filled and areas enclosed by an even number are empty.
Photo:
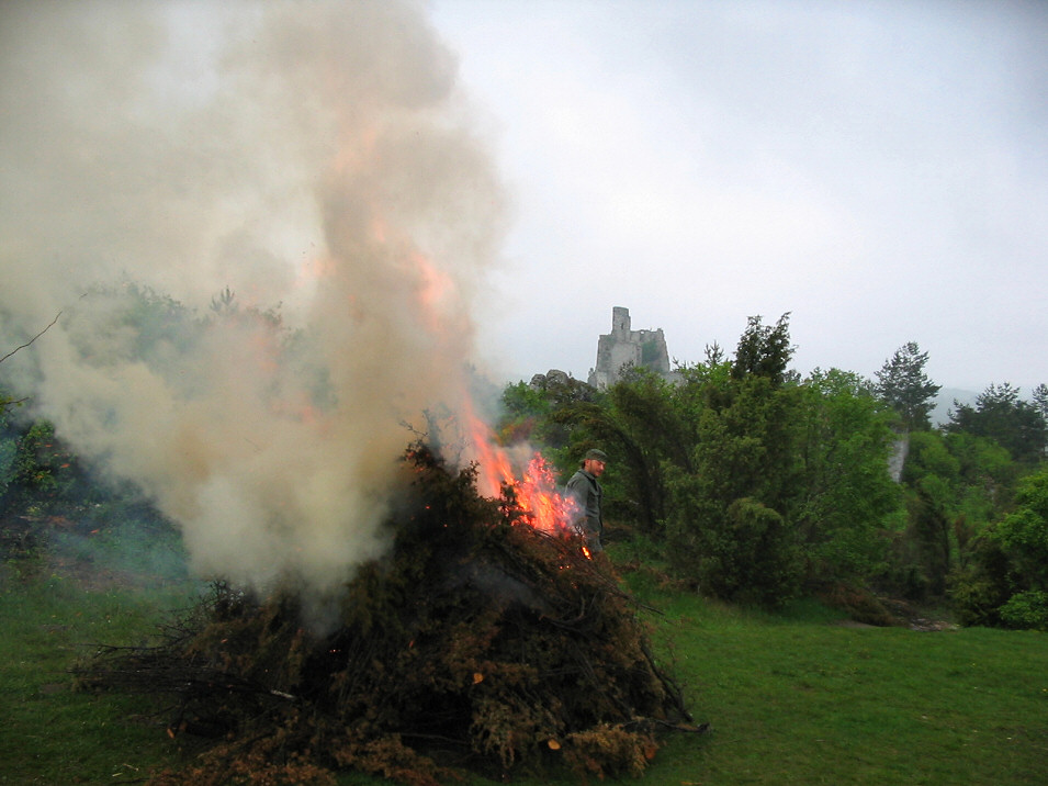
[[[665,598],[664,635],[708,737],[665,784],[1048,783],[1048,638],[854,628]]]

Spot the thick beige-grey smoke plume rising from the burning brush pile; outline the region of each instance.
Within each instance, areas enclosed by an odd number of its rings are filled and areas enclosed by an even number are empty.
[[[421,7],[3,2],[0,64],[4,346],[61,313],[5,375],[200,573],[337,586],[466,406],[500,239]]]

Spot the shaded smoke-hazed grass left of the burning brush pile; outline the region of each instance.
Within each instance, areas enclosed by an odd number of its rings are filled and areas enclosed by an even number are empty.
[[[174,761],[140,699],[76,692],[68,670],[92,643],[142,642],[189,593],[84,590],[57,575],[2,584],[0,784],[131,783]]]

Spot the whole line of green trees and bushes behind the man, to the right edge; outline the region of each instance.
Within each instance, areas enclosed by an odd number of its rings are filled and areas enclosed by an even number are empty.
[[[562,472],[602,447],[608,518],[707,595],[948,603],[964,624],[1048,629],[1048,388],[991,384],[935,427],[916,343],[875,379],[802,378],[795,349],[789,314],[751,317],[732,356],[707,347],[676,381],[538,375],[504,390],[502,438]]]

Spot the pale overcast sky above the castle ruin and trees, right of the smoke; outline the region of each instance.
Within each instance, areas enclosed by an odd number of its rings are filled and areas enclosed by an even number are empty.
[[[1048,3],[435,0],[515,203],[503,373],[791,313],[795,364],[1048,382]]]

